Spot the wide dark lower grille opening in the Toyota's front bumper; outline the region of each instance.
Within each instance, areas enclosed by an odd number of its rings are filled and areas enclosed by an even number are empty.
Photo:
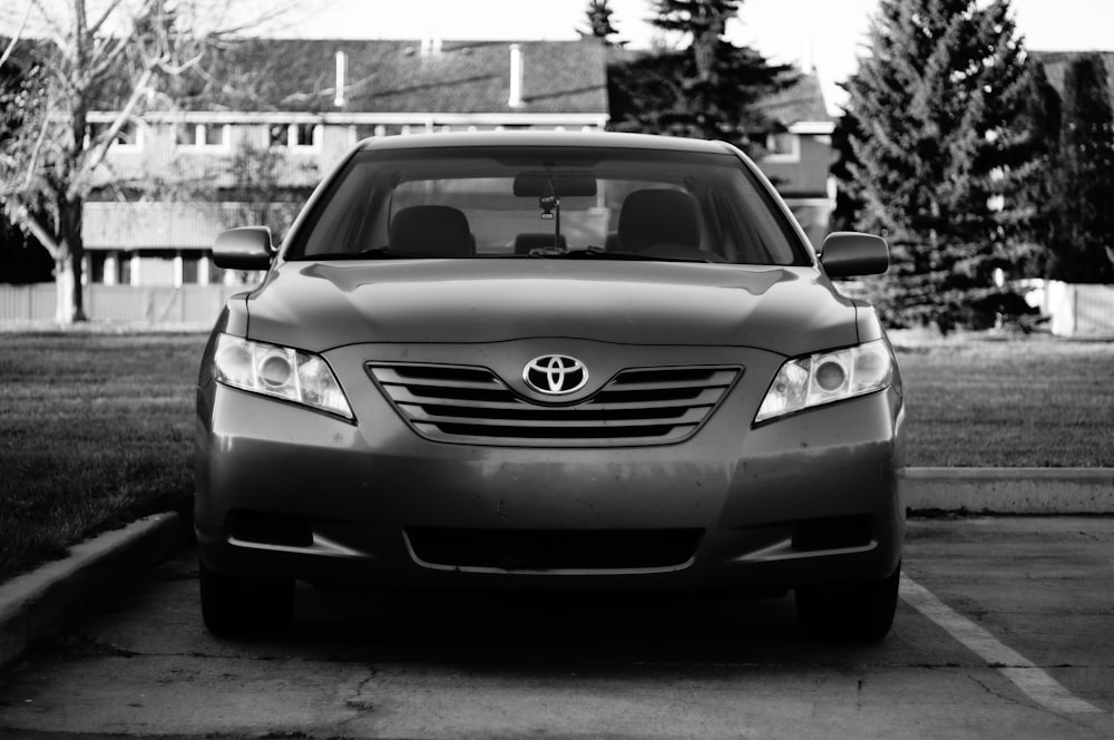
[[[429,565],[504,571],[666,568],[688,563],[701,529],[456,529],[410,527]]]

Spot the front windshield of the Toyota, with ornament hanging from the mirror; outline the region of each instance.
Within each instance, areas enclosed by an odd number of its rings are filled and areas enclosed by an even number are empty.
[[[638,259],[808,265],[730,154],[495,146],[356,154],[290,260]]]

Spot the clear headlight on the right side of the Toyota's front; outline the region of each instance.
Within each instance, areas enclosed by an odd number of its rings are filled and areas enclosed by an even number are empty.
[[[882,340],[788,360],[770,384],[754,422],[889,388],[893,359]]]

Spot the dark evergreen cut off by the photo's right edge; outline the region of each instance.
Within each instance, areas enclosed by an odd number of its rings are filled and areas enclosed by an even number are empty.
[[[1064,72],[1058,149],[1049,173],[1047,276],[1114,283],[1114,124],[1097,55],[1074,59]]]

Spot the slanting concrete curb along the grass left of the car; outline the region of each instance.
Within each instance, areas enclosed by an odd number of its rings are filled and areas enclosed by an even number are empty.
[[[187,541],[177,514],[156,514],[74,545],[68,557],[0,584],[0,670]]]

